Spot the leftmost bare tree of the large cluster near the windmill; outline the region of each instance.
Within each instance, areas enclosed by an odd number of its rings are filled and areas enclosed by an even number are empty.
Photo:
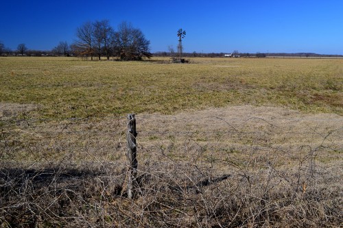
[[[93,48],[93,33],[94,33],[94,25],[91,22],[86,22],[78,29],[76,29],[76,36],[78,40],[76,40],[73,44],[73,49],[79,55],[90,55],[91,60],[93,60],[94,55],[94,48]]]

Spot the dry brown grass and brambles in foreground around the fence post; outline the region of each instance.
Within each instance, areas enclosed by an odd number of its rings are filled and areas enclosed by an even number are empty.
[[[126,118],[21,119],[2,109],[2,227],[340,227],[343,117],[248,105]],[[10,111],[11,110],[11,111]]]

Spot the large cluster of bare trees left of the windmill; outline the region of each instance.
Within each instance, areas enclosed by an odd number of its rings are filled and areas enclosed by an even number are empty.
[[[117,31],[110,26],[108,20],[86,22],[76,30],[77,39],[71,45],[76,55],[91,57],[117,57],[121,60],[141,60],[150,58],[150,41],[140,29],[130,23],[122,22]]]

